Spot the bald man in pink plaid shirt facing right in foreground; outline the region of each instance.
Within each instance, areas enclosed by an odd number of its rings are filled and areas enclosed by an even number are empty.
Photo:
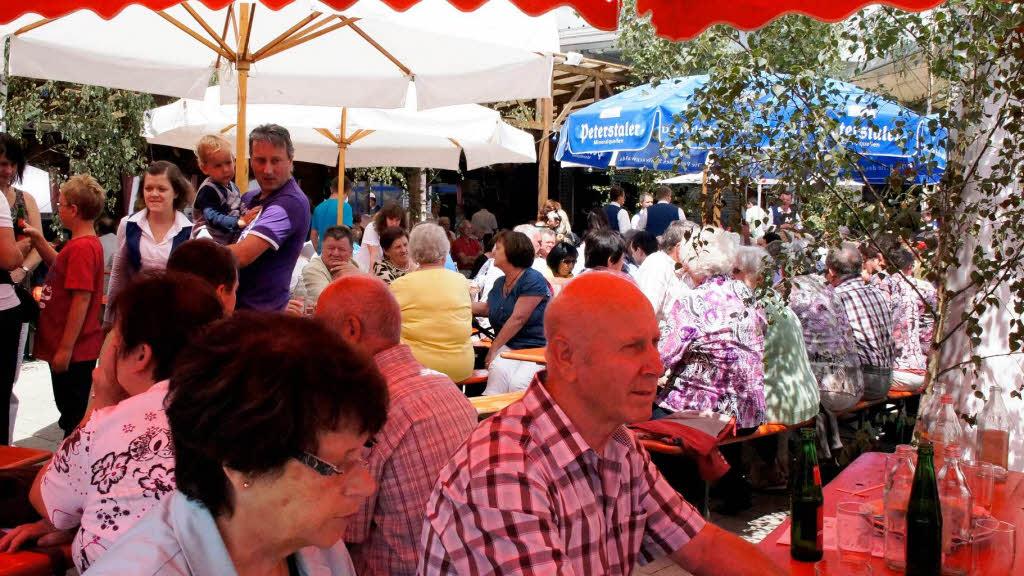
[[[693,574],[783,574],[700,515],[624,425],[650,418],[657,321],[607,273],[545,316],[546,372],[463,444],[427,503],[419,574],[632,574],[663,556]]]

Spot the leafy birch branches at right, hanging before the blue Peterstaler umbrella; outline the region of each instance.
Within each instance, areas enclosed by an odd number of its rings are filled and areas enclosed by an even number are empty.
[[[783,189],[795,193],[807,229],[814,233],[807,239],[811,250],[835,245],[839,240],[835,232],[844,225],[855,239],[881,245],[887,243],[880,241],[896,238],[899,242],[888,244],[902,244],[915,252],[924,276],[940,291],[939,305],[926,304],[938,326],[932,379],[961,368],[937,365],[937,352],[955,333],[970,340],[972,351],[965,365],[980,367],[985,357],[978,353],[979,320],[987,311],[998,311],[1009,319],[1006,338],[1011,351],[1024,349],[1024,195],[1019,184],[1024,181],[1020,106],[1024,71],[1017,66],[1024,54],[1019,32],[1024,30],[1024,10],[1020,4],[950,0],[923,13],[870,7],[837,25],[791,15],[753,33],[716,27],[679,44],[655,38],[646,19],[632,11],[621,25],[620,46],[639,81],[695,73],[710,76],[676,119],[678,129],[671,134],[663,131],[664,146],[719,149],[714,172],[723,188],[753,189],[759,172],[778,174],[781,183],[768,196]],[[927,93],[912,106],[935,115],[928,132],[938,126],[949,130],[946,171],[936,187],[912,186],[893,173],[888,187],[868,190],[865,197],[874,199],[865,202],[859,191],[838,184],[857,173],[859,159],[851,150],[851,137],[836,130],[838,121],[822,104],[834,90],[826,79],[844,77],[844,72],[846,77],[856,76],[880,60],[899,63],[908,57],[924,63],[927,77]],[[763,104],[768,94],[774,104]],[[872,98],[858,104],[868,112],[879,105]],[[785,116],[785,110],[797,112]],[[872,127],[870,114],[860,118],[858,127]],[[1005,136],[993,138],[996,129]],[[897,136],[905,149],[914,137],[909,127],[900,127]],[[771,147],[764,147],[764,141],[771,141]],[[987,167],[990,173],[982,177],[979,153],[995,147],[995,161]],[[918,162],[934,166],[935,159],[924,156]],[[914,236],[923,207],[941,228],[934,245],[919,249]],[[986,245],[994,246],[995,253],[987,252]],[[947,279],[963,256],[971,258],[974,271],[966,285],[950,288]],[[1007,301],[1002,290],[1011,294]],[[953,317],[950,310],[964,312]]]

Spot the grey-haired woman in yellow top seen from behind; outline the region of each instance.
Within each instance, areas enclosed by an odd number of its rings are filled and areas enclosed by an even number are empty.
[[[444,229],[417,225],[409,253],[418,269],[392,282],[391,291],[401,308],[401,342],[420,364],[458,382],[473,373],[473,313],[469,281],[444,269],[450,248]]]

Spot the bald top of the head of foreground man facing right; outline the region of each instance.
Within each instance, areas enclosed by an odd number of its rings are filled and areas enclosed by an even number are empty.
[[[616,274],[591,272],[569,282],[548,304],[545,336],[549,342],[563,336],[584,343],[624,322],[643,320],[637,315],[654,318],[654,310],[635,284]]]

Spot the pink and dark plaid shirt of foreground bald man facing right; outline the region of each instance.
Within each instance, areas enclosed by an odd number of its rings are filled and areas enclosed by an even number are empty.
[[[587,446],[545,376],[441,470],[419,574],[629,576],[703,528],[625,426],[603,455]]]

